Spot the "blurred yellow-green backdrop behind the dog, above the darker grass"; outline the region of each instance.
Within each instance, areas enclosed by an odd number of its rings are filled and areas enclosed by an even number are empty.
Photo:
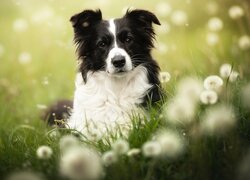
[[[121,17],[127,8],[154,12],[162,26],[155,26],[153,54],[162,71],[170,72],[171,84],[186,74],[218,74],[225,62],[242,76],[249,63],[240,64],[249,60],[249,53],[239,49],[238,39],[249,32],[249,4],[248,0],[1,0],[0,118],[4,124],[28,123],[45,105],[73,98],[76,55],[69,19],[75,13],[100,8],[108,19]],[[243,7],[244,17],[231,19],[232,5]],[[208,28],[212,17],[223,23],[216,32]]]

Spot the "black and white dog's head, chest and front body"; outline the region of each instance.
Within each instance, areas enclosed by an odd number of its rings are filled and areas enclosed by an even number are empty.
[[[160,99],[159,66],[151,56],[152,25],[159,20],[146,10],[111,20],[85,10],[70,21],[79,73],[69,127],[91,134],[129,125],[131,113]]]

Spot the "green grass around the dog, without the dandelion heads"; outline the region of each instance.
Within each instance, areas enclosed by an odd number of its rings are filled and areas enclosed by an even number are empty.
[[[188,26],[175,26],[170,16],[161,16],[155,9],[159,1],[40,1],[31,0],[0,2],[0,179],[9,173],[30,170],[39,172],[46,179],[65,179],[59,173],[59,140],[64,134],[74,134],[68,129],[54,129],[41,121],[38,104],[49,105],[58,99],[72,99],[76,56],[72,42],[72,29],[69,17],[86,8],[100,8],[104,17],[120,16],[126,6],[149,9],[168,22],[169,33],[160,33],[156,27],[156,44],[165,44],[167,50],[158,48],[153,51],[162,71],[169,71],[171,80],[164,84],[167,99],[176,95],[177,83],[182,77],[192,75],[204,79],[211,74],[219,74],[223,63],[232,64],[239,72],[236,82],[224,81],[223,91],[218,104],[230,104],[236,112],[237,124],[224,136],[197,134],[197,127],[208,105],[198,105],[196,121],[189,125],[174,126],[166,123],[161,115],[165,106],[149,110],[149,121],[140,124],[134,118],[133,128],[127,138],[131,148],[141,148],[162,128],[172,129],[183,136],[185,151],[178,158],[146,158],[143,155],[129,158],[120,157],[119,161],[105,168],[103,179],[241,179],[250,177],[242,168],[242,162],[249,154],[250,111],[243,106],[241,89],[249,84],[250,51],[238,47],[241,35],[249,35],[250,15],[232,20],[228,8],[235,5],[233,0],[184,2],[168,1],[173,10],[184,10],[188,15]],[[40,4],[41,3],[41,4]],[[219,11],[207,12],[208,3],[216,3]],[[245,12],[250,8],[247,0],[237,1]],[[112,11],[110,11],[112,8]],[[45,9],[45,15],[38,22],[32,18]],[[215,46],[206,43],[207,21],[213,16],[220,17],[224,28],[218,32],[220,41]],[[13,29],[13,22],[24,19],[27,29],[23,32]],[[20,63],[19,54],[28,52],[31,61]],[[48,81],[48,83],[47,83]],[[51,136],[59,131],[60,136]],[[79,136],[79,135],[78,135]],[[81,137],[81,135],[80,135]],[[117,136],[112,137],[113,140]],[[81,138],[80,138],[81,139]],[[83,144],[95,147],[101,153],[111,149],[112,142],[102,139],[98,142],[81,140]],[[41,145],[49,145],[53,156],[40,160],[36,150]],[[242,170],[243,169],[243,170]],[[243,172],[243,174],[242,174]]]

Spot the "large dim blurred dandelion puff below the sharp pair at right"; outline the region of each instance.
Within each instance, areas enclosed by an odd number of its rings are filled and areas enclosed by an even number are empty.
[[[204,133],[221,135],[230,130],[235,123],[233,108],[227,105],[217,105],[207,109],[201,128]]]

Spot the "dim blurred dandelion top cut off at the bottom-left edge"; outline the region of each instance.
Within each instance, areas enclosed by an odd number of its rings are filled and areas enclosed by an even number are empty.
[[[43,180],[41,176],[29,171],[14,172],[6,180]]]

